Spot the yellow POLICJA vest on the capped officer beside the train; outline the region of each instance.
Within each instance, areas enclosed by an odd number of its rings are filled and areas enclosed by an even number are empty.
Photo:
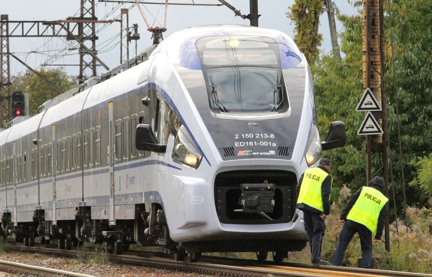
[[[324,212],[322,206],[321,184],[329,174],[318,167],[306,169],[303,174],[297,204],[304,203],[315,209]]]

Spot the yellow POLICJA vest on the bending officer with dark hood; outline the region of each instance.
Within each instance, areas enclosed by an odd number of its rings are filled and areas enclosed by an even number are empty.
[[[375,235],[379,213],[387,201],[388,198],[377,189],[363,187],[346,219],[365,225]]]

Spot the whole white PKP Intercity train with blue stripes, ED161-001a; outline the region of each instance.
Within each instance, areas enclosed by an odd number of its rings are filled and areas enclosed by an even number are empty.
[[[2,235],[280,261],[306,246],[300,175],[344,145],[341,121],[320,142],[309,66],[286,34],[188,28],[0,132]]]

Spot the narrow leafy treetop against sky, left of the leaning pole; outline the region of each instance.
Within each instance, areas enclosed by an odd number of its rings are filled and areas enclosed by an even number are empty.
[[[319,16],[323,12],[322,1],[297,0],[289,9],[286,17],[290,18],[295,25],[294,41],[305,54],[306,59],[312,62],[318,56],[318,47],[322,42],[322,34],[318,33]]]

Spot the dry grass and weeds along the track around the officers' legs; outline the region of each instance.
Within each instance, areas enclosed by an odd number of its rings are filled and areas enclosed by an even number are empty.
[[[339,198],[332,205],[330,216],[327,217],[326,235],[322,244],[322,259],[328,261],[333,259],[342,228],[337,219],[348,196],[349,190],[346,187],[342,188]],[[432,206],[432,198],[429,200],[429,206]],[[398,221],[398,228],[396,228],[395,222],[389,226],[390,251],[386,251],[382,241],[377,244],[374,243],[372,246],[373,258],[380,258],[377,267],[381,269],[432,273],[432,208],[407,207],[406,214],[408,226],[401,220]],[[384,231],[381,238],[385,239]],[[302,252],[310,253],[308,248]],[[342,265],[356,267],[361,256],[360,240],[358,235],[354,235]],[[309,257],[307,256],[307,258]]]

